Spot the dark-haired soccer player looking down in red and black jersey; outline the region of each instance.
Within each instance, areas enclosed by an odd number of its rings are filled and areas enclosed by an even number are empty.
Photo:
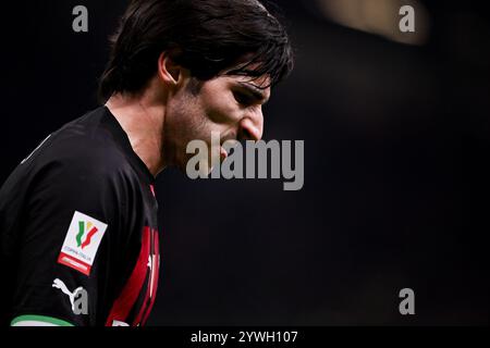
[[[185,169],[186,145],[211,132],[260,139],[261,105],[293,65],[257,0],[132,1],[111,44],[103,105],[48,136],[0,190],[5,324],[144,325],[160,265],[156,176]]]

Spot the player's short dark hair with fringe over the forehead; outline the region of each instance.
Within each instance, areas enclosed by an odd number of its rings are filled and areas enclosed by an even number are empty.
[[[293,69],[284,25],[258,0],[133,0],[111,38],[100,99],[140,91],[163,51],[199,80],[236,66],[226,75],[268,75],[273,86]]]

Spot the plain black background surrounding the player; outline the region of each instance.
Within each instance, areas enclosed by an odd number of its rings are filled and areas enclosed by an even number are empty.
[[[488,324],[483,1],[426,3],[424,46],[333,24],[313,1],[275,2],[297,63],[266,108],[265,139],[305,140],[305,186],[161,174],[162,269],[149,324]],[[0,5],[0,182],[49,133],[98,105],[107,38],[125,3]],[[89,11],[86,34],[72,30],[77,4]],[[415,315],[399,312],[405,287]]]

